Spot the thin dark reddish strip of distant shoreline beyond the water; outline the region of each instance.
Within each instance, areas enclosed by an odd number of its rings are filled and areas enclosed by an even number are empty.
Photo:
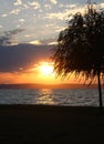
[[[97,84],[0,84],[0,89],[97,89]]]

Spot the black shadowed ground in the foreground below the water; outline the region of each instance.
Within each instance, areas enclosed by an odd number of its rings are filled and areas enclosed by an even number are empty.
[[[98,107],[0,105],[0,144],[104,144]]]

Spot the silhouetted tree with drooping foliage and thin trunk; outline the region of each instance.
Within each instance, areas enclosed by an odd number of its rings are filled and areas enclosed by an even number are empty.
[[[102,109],[101,78],[104,75],[104,11],[89,4],[84,14],[77,12],[60,32],[53,51],[54,70],[61,76],[70,73],[97,78]]]

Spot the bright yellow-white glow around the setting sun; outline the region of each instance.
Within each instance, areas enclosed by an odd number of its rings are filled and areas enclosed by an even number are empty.
[[[56,79],[54,72],[54,63],[50,61],[41,61],[29,70],[32,81],[43,84],[56,84],[60,80]],[[30,79],[30,78],[29,78]]]

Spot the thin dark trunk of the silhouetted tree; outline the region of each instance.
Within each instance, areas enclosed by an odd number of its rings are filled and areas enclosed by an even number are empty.
[[[103,102],[102,102],[102,88],[101,88],[101,79],[100,79],[100,72],[97,73],[97,84],[98,84],[98,99],[100,99],[100,109],[103,109]]]

